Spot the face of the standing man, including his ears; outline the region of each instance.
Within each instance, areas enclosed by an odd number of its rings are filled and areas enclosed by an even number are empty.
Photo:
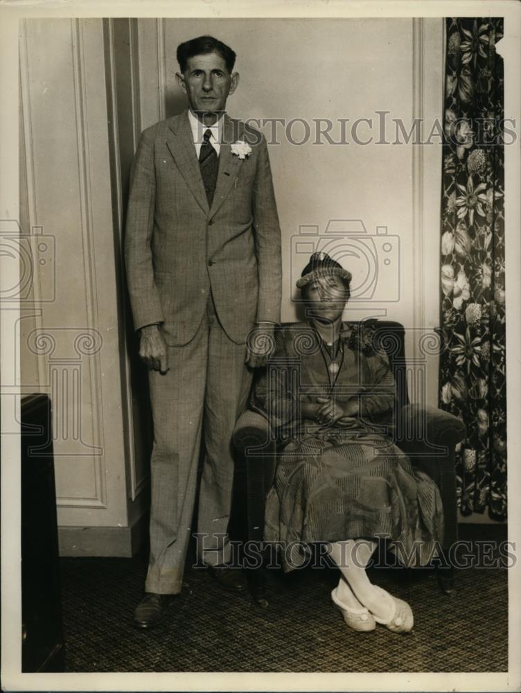
[[[233,94],[239,81],[238,73],[229,73],[224,58],[217,53],[188,58],[186,70],[176,77],[191,109],[198,114],[224,111],[228,94]]]

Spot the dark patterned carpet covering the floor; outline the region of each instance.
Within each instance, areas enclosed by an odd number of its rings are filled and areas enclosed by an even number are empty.
[[[409,635],[355,633],[329,603],[332,569],[269,575],[270,607],[230,595],[188,568],[170,617],[150,632],[130,625],[143,559],[61,559],[67,672],[504,672],[504,569],[457,574],[443,595],[429,570],[375,568],[371,579],[407,599]]]

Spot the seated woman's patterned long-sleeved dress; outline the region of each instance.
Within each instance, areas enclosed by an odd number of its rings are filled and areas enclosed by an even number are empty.
[[[427,563],[443,542],[439,489],[393,442],[396,385],[387,356],[370,342],[344,324],[331,373],[332,355],[318,333],[294,324],[279,332],[256,383],[252,406],[279,442],[265,541],[291,545],[285,570],[306,560],[312,542],[387,538],[407,565]],[[358,398],[360,417],[325,426],[301,418],[301,403],[324,397]]]

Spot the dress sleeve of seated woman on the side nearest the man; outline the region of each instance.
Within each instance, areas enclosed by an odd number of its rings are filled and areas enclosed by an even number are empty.
[[[256,378],[250,401],[250,408],[270,421],[277,438],[283,437],[283,430],[288,430],[298,418],[298,383],[293,374],[280,330],[275,335],[275,351]]]

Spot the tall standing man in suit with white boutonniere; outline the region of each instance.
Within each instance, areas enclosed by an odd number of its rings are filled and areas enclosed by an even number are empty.
[[[245,587],[227,565],[231,434],[267,356],[247,339],[269,343],[280,319],[281,231],[265,139],[224,112],[235,59],[211,36],[179,45],[189,109],[143,132],[130,179],[125,264],[154,425],[139,628],[159,624],[182,588],[202,435],[198,551],[221,586]]]

